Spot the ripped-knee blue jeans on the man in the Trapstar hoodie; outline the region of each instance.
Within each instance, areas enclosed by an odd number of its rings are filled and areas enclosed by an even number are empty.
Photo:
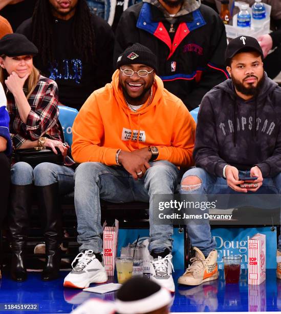
[[[181,194],[241,194],[231,189],[224,178],[211,175],[203,168],[192,168],[186,171],[182,181],[189,175],[197,176],[202,182],[198,188],[185,190],[181,187]],[[239,176],[246,178],[250,176],[250,171],[239,171]],[[264,179],[263,185],[255,192],[258,194],[280,194],[281,192],[281,173],[274,178]],[[201,209],[198,209],[201,214]],[[217,244],[211,236],[209,224],[187,224],[187,231],[192,246],[198,247],[205,257],[214,249]],[[278,249],[281,249],[281,236],[278,239]]]

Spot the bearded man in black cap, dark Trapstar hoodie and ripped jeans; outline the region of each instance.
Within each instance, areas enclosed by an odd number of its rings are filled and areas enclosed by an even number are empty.
[[[191,194],[280,194],[281,88],[264,72],[262,48],[252,37],[232,40],[225,61],[231,78],[202,100],[193,151],[196,168],[183,175],[181,193],[189,198]],[[250,176],[257,179],[240,180]],[[251,185],[246,188],[245,183]],[[196,258],[178,282],[198,285],[217,279],[218,253],[209,223],[188,224],[187,229]],[[276,275],[281,279],[281,263]]]

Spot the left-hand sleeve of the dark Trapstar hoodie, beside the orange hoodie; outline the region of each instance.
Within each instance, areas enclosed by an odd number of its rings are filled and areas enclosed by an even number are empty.
[[[198,113],[193,158],[196,167],[203,168],[212,175],[223,176],[223,168],[227,163],[219,156],[216,134],[214,112],[208,96],[205,96]]]

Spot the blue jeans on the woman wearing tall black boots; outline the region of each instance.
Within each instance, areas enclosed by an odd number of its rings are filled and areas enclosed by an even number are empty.
[[[15,185],[34,183],[36,186],[58,183],[59,193],[66,194],[74,189],[74,170],[52,163],[41,163],[33,169],[28,163],[18,162],[11,168],[11,182]]]

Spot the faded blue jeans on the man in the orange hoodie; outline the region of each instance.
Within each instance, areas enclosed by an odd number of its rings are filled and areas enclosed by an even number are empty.
[[[152,221],[152,195],[171,194],[177,187],[179,169],[167,162],[150,163],[143,178],[135,181],[123,167],[86,162],[75,172],[75,209],[79,250],[102,251],[100,199],[113,203],[149,202],[149,251],[160,253],[172,244],[172,225]],[[85,188],[87,187],[87,188]]]

